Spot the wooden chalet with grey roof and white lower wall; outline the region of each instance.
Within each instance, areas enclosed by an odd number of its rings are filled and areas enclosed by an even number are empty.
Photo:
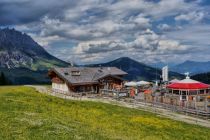
[[[53,68],[48,73],[52,81],[52,90],[65,94],[99,93],[101,89],[120,89],[126,74],[116,67]]]

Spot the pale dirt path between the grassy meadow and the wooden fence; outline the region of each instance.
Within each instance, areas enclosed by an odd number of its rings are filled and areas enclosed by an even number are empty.
[[[167,110],[167,109],[152,107],[150,104],[146,104],[146,103],[141,103],[141,102],[126,103],[126,102],[123,102],[123,101],[116,101],[116,100],[111,99],[111,98],[71,97],[71,96],[65,96],[65,95],[62,95],[62,94],[51,93],[50,88],[46,87],[46,86],[31,86],[31,85],[27,85],[27,86],[35,88],[40,93],[47,93],[49,95],[56,96],[56,97],[63,98],[63,99],[103,102],[103,103],[109,103],[109,104],[128,107],[128,108],[136,108],[136,109],[156,113],[160,116],[167,117],[167,118],[170,118],[170,119],[173,119],[173,120],[182,121],[182,122],[186,122],[186,123],[189,123],[189,124],[196,124],[196,125],[200,125],[200,126],[210,128],[210,121],[208,121],[208,120],[203,120],[203,119],[192,117],[192,116],[178,114],[176,112],[172,112],[172,111]]]

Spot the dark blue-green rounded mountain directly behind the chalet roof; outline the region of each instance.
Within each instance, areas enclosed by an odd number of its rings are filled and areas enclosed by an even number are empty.
[[[127,80],[155,80],[156,77],[159,79],[159,76],[161,75],[162,71],[160,69],[155,69],[153,67],[147,66],[143,63],[137,62],[133,59],[130,59],[128,57],[122,57],[107,63],[101,63],[101,64],[93,64],[89,66],[106,66],[106,67],[117,67],[125,72],[128,73],[128,75],[125,77]],[[175,72],[169,72],[169,77],[172,78],[183,78],[183,75],[175,73]]]

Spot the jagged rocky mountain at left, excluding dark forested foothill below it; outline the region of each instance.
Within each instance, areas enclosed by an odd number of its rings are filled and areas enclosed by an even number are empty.
[[[46,52],[27,34],[14,29],[0,29],[0,67],[46,70],[68,65]]]

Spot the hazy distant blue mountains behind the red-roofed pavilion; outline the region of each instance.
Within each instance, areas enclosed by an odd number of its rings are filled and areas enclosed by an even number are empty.
[[[210,71],[210,61],[185,61],[184,63],[172,67],[171,70],[182,74],[185,72],[190,72],[190,74],[205,73]]]

